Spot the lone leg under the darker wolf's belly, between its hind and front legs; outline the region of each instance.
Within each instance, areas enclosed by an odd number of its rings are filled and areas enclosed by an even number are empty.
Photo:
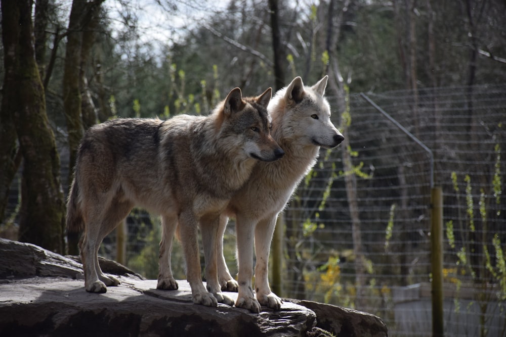
[[[178,225],[177,216],[163,215],[161,218],[162,238],[160,241],[160,258],[158,262],[157,289],[177,290],[178,282],[172,275],[171,253],[174,232]]]

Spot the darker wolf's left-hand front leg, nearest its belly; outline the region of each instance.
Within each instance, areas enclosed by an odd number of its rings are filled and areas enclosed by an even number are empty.
[[[198,219],[191,211],[183,212],[179,217],[179,226],[186,261],[186,278],[190,283],[193,303],[216,307],[218,301],[213,294],[205,290],[200,276],[200,254],[197,242]]]

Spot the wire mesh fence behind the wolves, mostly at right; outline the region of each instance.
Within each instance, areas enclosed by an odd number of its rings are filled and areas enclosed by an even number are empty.
[[[368,97],[434,154],[434,181],[444,195],[445,335],[506,335],[506,85]],[[432,335],[430,156],[361,95],[350,95],[349,104],[350,148],[322,150],[282,214],[282,296],[376,314],[392,336]],[[338,112],[332,118],[340,126]],[[14,182],[12,220],[18,187]],[[126,265],[150,278],[157,275],[159,223],[139,209],[126,221]],[[100,254],[115,258],[115,245],[113,232]],[[234,274],[233,222],[224,249]],[[179,243],[173,268],[185,278]]]

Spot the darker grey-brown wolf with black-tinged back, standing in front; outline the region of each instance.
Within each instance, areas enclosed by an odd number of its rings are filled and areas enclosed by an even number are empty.
[[[114,119],[86,132],[66,218],[68,231],[83,229],[79,248],[86,291],[105,293],[108,285],[119,284],[100,269],[98,249],[132,208],[140,206],[161,215],[164,238],[172,237],[179,223],[193,302],[233,304],[222,295],[217,277],[208,276],[210,293],[202,283],[197,225],[218,223],[257,161],[283,156],[269,133],[271,93],[269,88],[258,97],[243,98],[235,88],[208,116]],[[204,244],[216,245],[213,237]],[[161,255],[170,254],[171,246],[163,246],[168,251]],[[172,274],[165,276],[159,287],[177,288]]]

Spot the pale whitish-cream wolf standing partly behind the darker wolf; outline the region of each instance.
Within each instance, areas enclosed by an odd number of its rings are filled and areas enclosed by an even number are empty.
[[[235,290],[238,286],[236,307],[258,313],[260,305],[272,309],[281,306],[268,280],[269,248],[277,216],[315,165],[320,148],[334,148],[344,139],[330,121],[330,107],[323,97],[327,79],[325,76],[308,87],[296,77],[276,92],[268,107],[273,125],[271,134],[285,155],[276,162],[257,163],[221,217],[221,239],[217,240],[219,280],[224,290]],[[222,238],[228,217],[236,219],[238,284],[223,259]],[[254,244],[256,299],[251,286]]]

